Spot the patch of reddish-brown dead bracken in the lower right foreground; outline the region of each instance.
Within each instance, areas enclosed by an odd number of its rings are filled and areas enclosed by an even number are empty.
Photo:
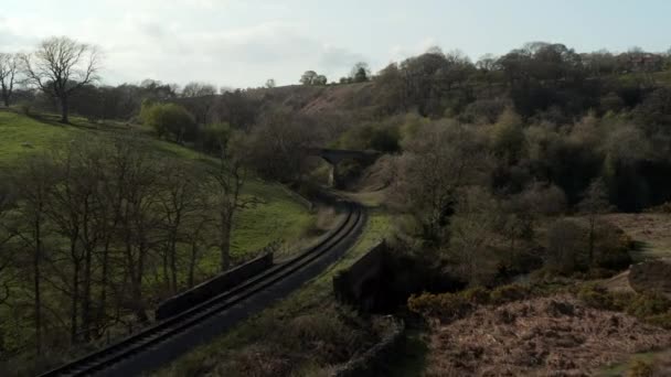
[[[480,308],[437,325],[427,376],[586,376],[670,345],[671,331],[562,294]]]

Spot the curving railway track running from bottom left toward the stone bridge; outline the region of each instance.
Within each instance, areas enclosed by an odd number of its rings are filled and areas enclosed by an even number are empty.
[[[213,338],[317,276],[354,244],[365,214],[353,203],[343,205],[345,218],[297,257],[273,266],[206,302],[41,376],[140,375]]]

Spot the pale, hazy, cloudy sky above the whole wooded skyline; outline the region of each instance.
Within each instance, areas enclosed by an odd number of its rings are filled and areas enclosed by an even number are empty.
[[[671,47],[668,0],[0,0],[0,52],[66,35],[104,54],[103,84],[338,80],[439,46],[473,61],[526,42],[578,52]]]

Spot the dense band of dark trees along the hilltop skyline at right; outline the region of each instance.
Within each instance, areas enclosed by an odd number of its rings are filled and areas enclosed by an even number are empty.
[[[589,109],[637,105],[654,73],[671,67],[671,52],[631,49],[578,53],[558,43],[534,42],[502,56],[472,63],[459,51],[425,54],[390,64],[376,76],[382,111],[416,109],[429,117],[468,112],[484,99],[508,97],[524,118],[554,111],[571,119]]]

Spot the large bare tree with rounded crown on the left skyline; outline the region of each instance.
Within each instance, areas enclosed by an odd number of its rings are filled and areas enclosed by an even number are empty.
[[[42,41],[32,54],[21,55],[29,83],[61,104],[61,121],[68,122],[68,98],[98,79],[100,55],[95,46],[66,36]]]

